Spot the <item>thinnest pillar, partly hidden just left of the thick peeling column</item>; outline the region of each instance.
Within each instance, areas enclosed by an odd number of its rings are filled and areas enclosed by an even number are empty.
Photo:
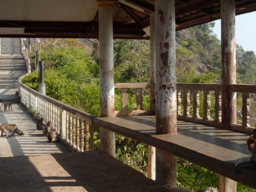
[[[150,110],[155,111],[155,13],[150,14]],[[155,180],[155,147],[148,145],[148,178]]]

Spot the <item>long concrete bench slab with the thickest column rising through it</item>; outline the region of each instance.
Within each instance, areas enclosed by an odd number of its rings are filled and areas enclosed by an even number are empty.
[[[233,171],[250,160],[248,134],[178,120],[177,134],[156,135],[155,116],[94,117],[93,123],[256,188],[256,167]]]

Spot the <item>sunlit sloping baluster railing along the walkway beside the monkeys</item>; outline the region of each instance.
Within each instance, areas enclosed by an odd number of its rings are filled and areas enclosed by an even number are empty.
[[[61,142],[71,151],[88,151],[89,143],[93,150],[93,115],[38,93],[21,82],[18,86],[21,103],[44,117],[45,122],[51,120],[61,133]]]

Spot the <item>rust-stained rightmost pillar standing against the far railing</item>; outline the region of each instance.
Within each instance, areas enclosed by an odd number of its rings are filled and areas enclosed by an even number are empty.
[[[229,91],[236,84],[235,0],[221,0],[221,83],[222,128],[236,123],[236,92]]]

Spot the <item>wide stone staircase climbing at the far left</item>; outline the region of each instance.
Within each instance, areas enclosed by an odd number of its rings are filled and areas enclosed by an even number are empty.
[[[18,88],[18,78],[27,73],[20,38],[0,38],[0,89]]]

